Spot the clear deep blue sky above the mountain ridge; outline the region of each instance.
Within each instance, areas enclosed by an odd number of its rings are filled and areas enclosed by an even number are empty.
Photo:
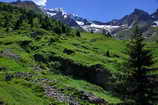
[[[47,8],[64,8],[67,12],[99,21],[119,19],[131,13],[135,8],[149,13],[158,9],[158,0],[47,0],[46,4]]]

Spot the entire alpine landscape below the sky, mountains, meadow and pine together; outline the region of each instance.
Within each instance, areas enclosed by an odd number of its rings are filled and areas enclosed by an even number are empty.
[[[158,10],[100,22],[0,2],[0,105],[158,105],[157,68]]]

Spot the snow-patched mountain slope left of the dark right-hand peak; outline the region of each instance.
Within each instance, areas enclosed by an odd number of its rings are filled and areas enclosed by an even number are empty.
[[[44,10],[50,17],[62,21],[71,27],[82,28],[88,32],[108,33],[120,28],[120,26],[106,25],[103,22],[91,21],[77,15],[67,13],[61,8]]]

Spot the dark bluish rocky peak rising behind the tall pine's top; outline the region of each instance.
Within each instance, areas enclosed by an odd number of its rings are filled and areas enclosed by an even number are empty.
[[[149,14],[143,10],[135,9],[131,14],[124,16],[119,20],[112,20],[107,25],[118,25],[122,26],[120,30],[116,30],[112,34],[115,34],[118,39],[130,39],[133,35],[133,28],[137,25],[143,36],[149,38],[154,35],[155,31],[152,30],[152,27],[157,27],[157,24],[154,23],[158,21],[158,10],[153,14]],[[150,34],[148,34],[150,32]]]

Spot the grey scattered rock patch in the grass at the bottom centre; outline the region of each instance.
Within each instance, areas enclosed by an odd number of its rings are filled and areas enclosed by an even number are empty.
[[[79,91],[76,90],[74,91],[73,88],[63,88],[63,89],[58,89],[55,86],[50,86],[49,84],[55,83],[57,81],[52,81],[49,79],[39,79],[34,82],[39,82],[42,84],[42,87],[44,89],[44,93],[49,97],[49,98],[55,98],[59,102],[66,102],[69,105],[82,105],[79,103],[79,100],[83,100],[85,102],[92,103],[94,105],[108,105],[106,100],[99,98],[92,93],[85,92],[85,91]],[[64,91],[74,91],[73,94],[65,94]],[[87,105],[87,104],[86,104]]]

